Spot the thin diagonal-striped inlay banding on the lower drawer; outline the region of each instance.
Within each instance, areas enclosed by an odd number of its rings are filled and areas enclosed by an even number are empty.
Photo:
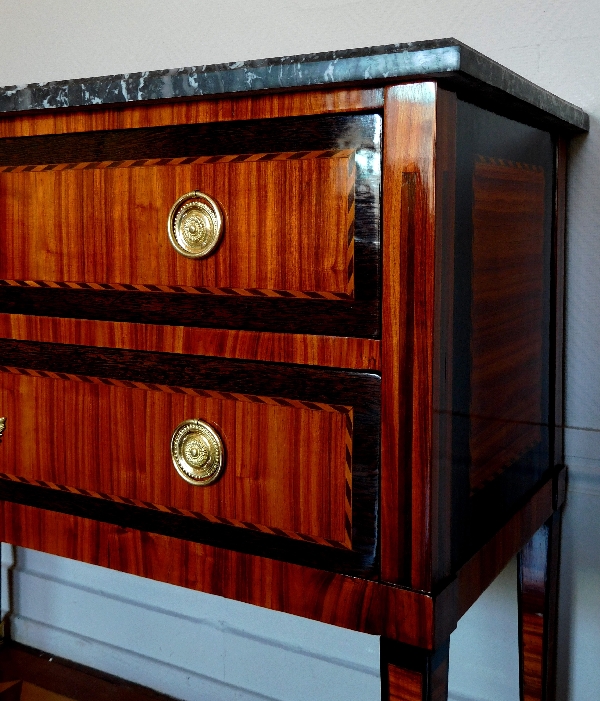
[[[198,397],[207,397],[210,399],[218,399],[225,401],[249,402],[251,404],[267,404],[281,408],[301,409],[304,411],[328,411],[338,414],[344,414],[345,421],[345,443],[346,443],[346,460],[345,460],[345,488],[344,488],[344,542],[330,540],[327,538],[319,538],[318,536],[308,536],[297,533],[296,531],[285,531],[279,528],[269,528],[268,526],[246,523],[244,521],[236,521],[233,519],[225,519],[222,517],[212,516],[210,514],[199,514],[195,511],[186,511],[175,507],[162,506],[160,504],[151,504],[149,502],[137,501],[127,497],[109,496],[99,492],[91,492],[85,489],[77,489],[66,485],[55,485],[51,482],[30,480],[24,477],[16,477],[14,475],[1,475],[2,479],[11,481],[34,484],[36,486],[48,487],[57,489],[62,492],[70,492],[72,494],[82,494],[84,496],[92,496],[99,499],[108,499],[123,504],[131,504],[143,508],[164,511],[165,513],[175,513],[181,516],[191,516],[202,521],[210,521],[211,523],[222,523],[225,525],[236,526],[238,528],[249,528],[251,530],[261,531],[272,535],[282,535],[296,540],[305,540],[320,545],[327,545],[336,548],[352,548],[352,440],[353,440],[353,410],[352,407],[343,406],[340,404],[325,404],[323,402],[307,402],[297,399],[283,399],[281,397],[264,397],[250,394],[238,394],[237,392],[216,392],[214,390],[192,389],[189,387],[173,387],[170,385],[150,384],[145,382],[134,382],[130,380],[115,380],[112,378],[92,377],[89,375],[74,375],[72,373],[50,372],[48,370],[30,370],[27,368],[16,368],[0,366],[0,372],[9,373],[11,375],[25,375],[27,377],[35,377],[41,379],[63,380],[85,382],[86,384],[110,385],[114,387],[122,387],[125,389],[141,389],[150,392],[165,392],[167,394],[189,394]]]

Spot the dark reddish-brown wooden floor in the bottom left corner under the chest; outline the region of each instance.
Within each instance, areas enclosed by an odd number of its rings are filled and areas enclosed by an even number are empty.
[[[168,701],[171,698],[18,643],[0,645],[0,701]]]

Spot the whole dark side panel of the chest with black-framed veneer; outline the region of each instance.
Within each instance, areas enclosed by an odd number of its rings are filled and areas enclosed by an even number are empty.
[[[554,285],[562,287],[552,273],[551,135],[460,100],[457,114],[454,567],[552,468],[554,387],[562,375],[549,333]]]

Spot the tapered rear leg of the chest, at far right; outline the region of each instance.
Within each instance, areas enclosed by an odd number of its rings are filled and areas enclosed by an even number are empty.
[[[555,701],[561,512],[519,554],[521,701]]]

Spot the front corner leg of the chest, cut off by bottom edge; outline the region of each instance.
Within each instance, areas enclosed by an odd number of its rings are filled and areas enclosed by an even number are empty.
[[[449,651],[449,640],[429,652],[382,638],[382,701],[447,701]]]

